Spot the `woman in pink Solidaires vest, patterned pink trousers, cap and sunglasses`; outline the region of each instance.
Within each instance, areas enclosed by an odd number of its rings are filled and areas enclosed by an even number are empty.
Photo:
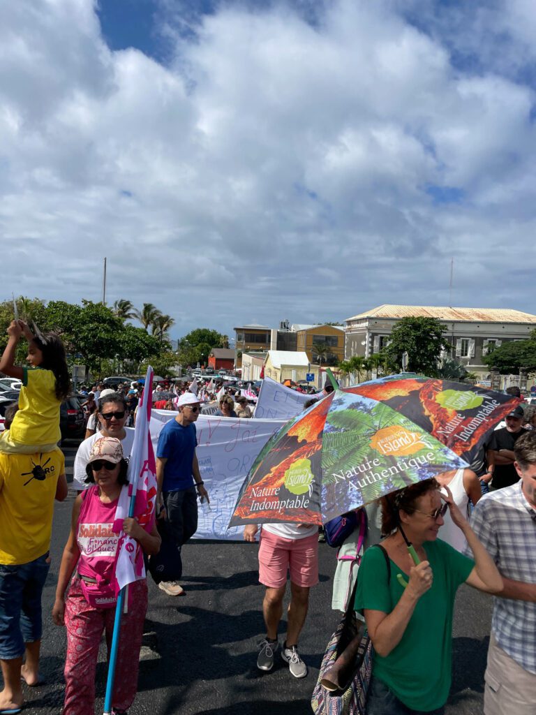
[[[61,558],[52,609],[54,623],[65,625],[67,630],[63,715],[94,715],[101,635],[106,631],[109,647],[114,628],[119,534],[112,531],[112,526],[121,488],[128,483],[126,468],[121,442],[99,438],[91,447],[86,465],[89,488],[74,502],[71,533]],[[126,518],[122,528],[148,556],[158,553],[160,537],[156,526],[148,533],[136,519]],[[121,617],[112,699],[115,715],[126,712],[136,696],[146,612],[147,581],[142,578],[130,584],[128,611]]]

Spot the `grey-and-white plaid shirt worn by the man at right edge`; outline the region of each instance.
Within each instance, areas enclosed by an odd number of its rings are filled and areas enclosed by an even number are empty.
[[[486,494],[471,526],[505,578],[536,583],[536,511],[522,481]],[[470,553],[467,546],[466,551]],[[536,603],[494,598],[492,631],[497,643],[523,669],[536,674]]]

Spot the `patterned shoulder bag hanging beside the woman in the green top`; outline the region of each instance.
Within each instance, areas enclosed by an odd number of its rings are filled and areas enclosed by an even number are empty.
[[[379,546],[379,545],[378,545]],[[382,546],[391,577],[389,556]],[[315,715],[365,715],[374,651],[365,623],[354,611],[357,580],[343,618],[327,644],[311,698]]]

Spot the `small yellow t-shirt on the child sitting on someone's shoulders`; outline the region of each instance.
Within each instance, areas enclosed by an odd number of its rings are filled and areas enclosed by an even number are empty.
[[[56,378],[52,370],[24,369],[19,411],[9,429],[9,440],[25,445],[53,445],[61,439]]]

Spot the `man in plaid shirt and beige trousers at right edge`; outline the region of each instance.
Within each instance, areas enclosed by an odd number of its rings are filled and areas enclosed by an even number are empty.
[[[520,481],[486,494],[471,526],[494,558],[495,596],[485,674],[485,715],[536,713],[536,431],[515,443]]]

